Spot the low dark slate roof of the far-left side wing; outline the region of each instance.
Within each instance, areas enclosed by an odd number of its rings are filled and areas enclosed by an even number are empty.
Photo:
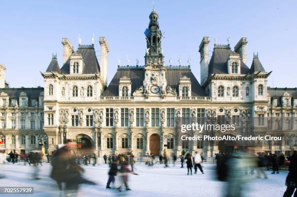
[[[18,98],[22,92],[26,93],[29,98],[38,98],[40,94],[44,92],[44,88],[0,88],[0,93],[1,92],[8,94],[10,98]]]

